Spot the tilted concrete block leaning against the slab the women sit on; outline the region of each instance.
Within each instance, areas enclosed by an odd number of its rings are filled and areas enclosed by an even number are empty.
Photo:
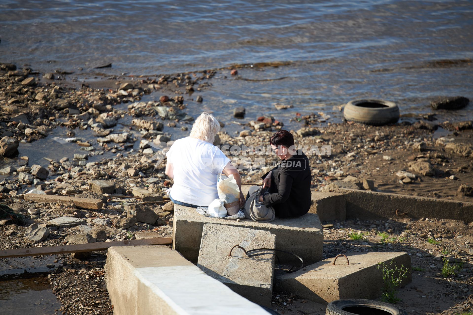
[[[258,251],[248,257],[240,248],[276,248],[276,236],[269,231],[221,224],[204,224],[197,266],[212,278],[250,301],[271,306],[274,251]],[[251,255],[250,254],[250,255]]]

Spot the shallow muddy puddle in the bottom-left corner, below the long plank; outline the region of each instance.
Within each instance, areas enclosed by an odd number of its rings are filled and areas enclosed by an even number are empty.
[[[0,314],[58,314],[62,304],[53,294],[47,272],[55,256],[0,259]],[[48,267],[49,265],[49,267]]]

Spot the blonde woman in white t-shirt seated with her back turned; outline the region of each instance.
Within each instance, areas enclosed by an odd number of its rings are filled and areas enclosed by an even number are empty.
[[[203,112],[195,119],[191,134],[178,139],[166,153],[166,175],[174,179],[169,197],[175,204],[207,207],[219,197],[218,174],[233,175],[240,188],[240,205],[245,204],[241,192],[240,173],[228,157],[215,145],[219,121]]]

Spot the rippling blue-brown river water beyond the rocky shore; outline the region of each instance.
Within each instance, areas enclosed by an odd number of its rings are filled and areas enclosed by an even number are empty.
[[[249,118],[340,118],[333,105],[366,97],[427,113],[436,96],[473,97],[472,13],[471,0],[1,0],[0,61],[77,77],[254,64],[240,79],[221,72],[202,93],[222,116],[245,106]],[[472,108],[440,119],[469,118]]]

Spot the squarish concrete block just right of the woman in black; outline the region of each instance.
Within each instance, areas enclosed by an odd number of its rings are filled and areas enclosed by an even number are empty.
[[[313,191],[309,213],[316,213],[320,221],[345,221],[345,197],[337,193]]]

